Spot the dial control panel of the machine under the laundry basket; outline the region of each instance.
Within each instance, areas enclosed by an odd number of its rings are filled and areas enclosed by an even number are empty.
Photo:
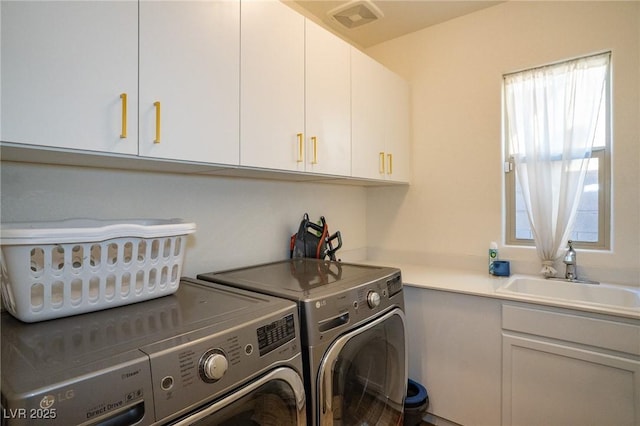
[[[239,328],[215,332],[214,324],[143,348],[149,353],[152,375],[158,377],[153,385],[157,418],[170,418],[195,402],[231,391],[274,363],[299,357],[295,312],[292,303]]]

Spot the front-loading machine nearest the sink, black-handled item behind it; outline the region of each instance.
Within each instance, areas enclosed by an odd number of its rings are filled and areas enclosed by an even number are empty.
[[[198,278],[298,305],[309,424],[402,423],[408,378],[400,270],[303,258]]]

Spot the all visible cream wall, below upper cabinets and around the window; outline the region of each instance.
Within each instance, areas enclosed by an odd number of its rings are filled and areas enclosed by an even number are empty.
[[[583,273],[640,282],[640,3],[506,2],[369,49],[412,87],[412,185],[358,187],[2,163],[2,221],[181,217],[196,222],[185,274],[286,257],[302,214],[366,255],[483,270],[502,241],[502,74],[613,50],[610,252]],[[516,272],[532,249],[500,247]]]

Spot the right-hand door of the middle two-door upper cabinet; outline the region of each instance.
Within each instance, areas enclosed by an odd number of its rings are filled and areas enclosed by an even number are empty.
[[[306,21],[306,170],[351,174],[351,47]]]

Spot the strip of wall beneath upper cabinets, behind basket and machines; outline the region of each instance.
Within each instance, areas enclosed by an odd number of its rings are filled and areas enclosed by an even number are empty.
[[[2,222],[183,218],[196,223],[183,275],[285,259],[305,212],[341,231],[343,260],[366,256],[360,187],[2,163]]]

